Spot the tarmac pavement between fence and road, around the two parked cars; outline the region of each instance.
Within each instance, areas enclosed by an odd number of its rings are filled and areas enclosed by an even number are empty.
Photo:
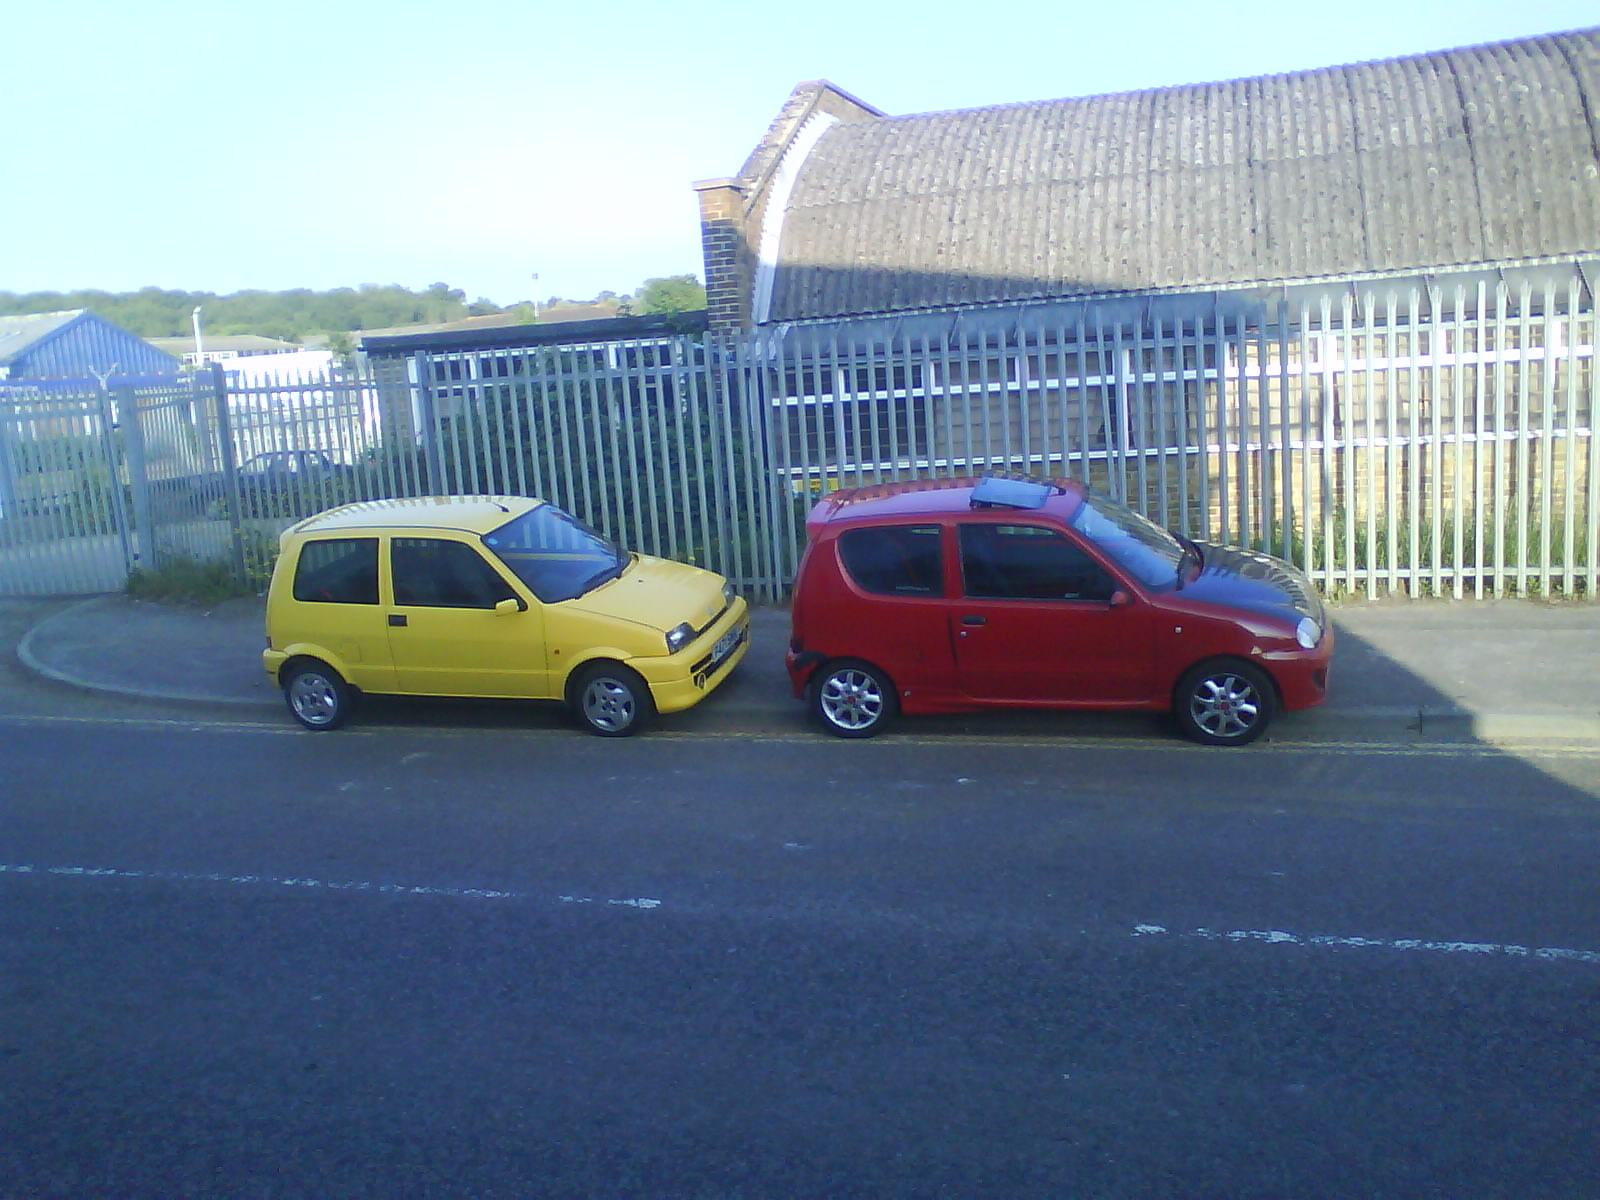
[[[1328,701],[1282,714],[1274,741],[1600,744],[1600,603],[1381,600],[1330,606]],[[750,650],[707,701],[662,718],[670,731],[770,734],[808,728],[784,674],[784,608],[752,613]],[[72,688],[203,710],[278,709],[261,667],[264,602],[214,608],[102,595],[66,603],[18,643],[37,675]],[[360,714],[357,715],[360,720]],[[1147,714],[907,717],[901,731],[1043,736],[1147,734]]]

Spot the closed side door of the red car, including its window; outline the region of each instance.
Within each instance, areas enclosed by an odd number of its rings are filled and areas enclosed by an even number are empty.
[[[1022,522],[962,522],[957,533],[962,592],[947,611],[968,696],[1085,706],[1150,698],[1152,610],[1077,539]]]

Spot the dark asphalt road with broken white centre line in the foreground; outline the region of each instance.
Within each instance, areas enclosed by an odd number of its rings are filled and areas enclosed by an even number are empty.
[[[0,707],[0,1195],[1592,1197],[1600,754]]]

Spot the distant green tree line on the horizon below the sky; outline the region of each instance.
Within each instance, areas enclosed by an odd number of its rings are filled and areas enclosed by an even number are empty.
[[[254,333],[298,342],[310,334],[358,333],[403,325],[443,325],[466,317],[488,317],[510,312],[520,320],[536,322],[541,309],[568,304],[598,304],[616,315],[688,312],[706,307],[706,290],[694,275],[648,278],[632,294],[603,291],[587,301],[550,296],[542,304],[523,301],[501,307],[488,299],[467,301],[461,288],[432,283],[421,291],[398,283],[363,283],[358,288],[312,291],[235,291],[218,296],[211,291],[176,291],[139,288],[138,291],[0,291],[0,317],[90,309],[138,338],[184,338],[192,333],[192,314],[203,309],[205,331],[210,334]]]

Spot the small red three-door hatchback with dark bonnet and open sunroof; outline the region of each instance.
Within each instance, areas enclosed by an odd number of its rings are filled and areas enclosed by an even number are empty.
[[[899,712],[1149,709],[1243,746],[1326,696],[1333,629],[1301,571],[1070,480],[851,488],[806,533],[789,678],[842,738]]]

